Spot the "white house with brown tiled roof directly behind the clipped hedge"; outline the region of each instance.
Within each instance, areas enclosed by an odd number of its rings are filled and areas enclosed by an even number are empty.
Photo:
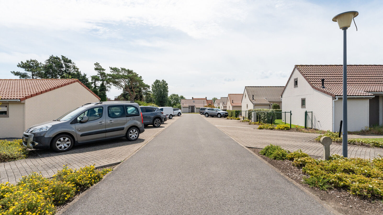
[[[249,109],[271,109],[272,104],[282,106],[281,94],[284,86],[245,86],[242,97],[242,111]]]

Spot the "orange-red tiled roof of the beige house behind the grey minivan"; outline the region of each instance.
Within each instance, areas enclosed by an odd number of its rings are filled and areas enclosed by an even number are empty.
[[[75,82],[79,82],[93,93],[78,79],[0,79],[0,99],[20,99],[23,101]],[[100,99],[95,93],[93,95]]]

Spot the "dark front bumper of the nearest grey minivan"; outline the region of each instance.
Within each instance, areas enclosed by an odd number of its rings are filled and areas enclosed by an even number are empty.
[[[45,137],[46,132],[38,132],[34,134],[23,133],[23,146],[30,149],[49,148],[53,137]]]

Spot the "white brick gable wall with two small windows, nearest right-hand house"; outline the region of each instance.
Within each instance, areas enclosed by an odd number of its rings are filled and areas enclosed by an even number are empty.
[[[298,78],[297,87],[294,87],[295,78]],[[306,108],[301,108],[301,98],[306,98]],[[304,111],[313,111],[313,127],[332,130],[332,96],[314,90],[298,69],[293,71],[286,85],[282,104],[282,111],[292,113],[291,124],[304,126]]]

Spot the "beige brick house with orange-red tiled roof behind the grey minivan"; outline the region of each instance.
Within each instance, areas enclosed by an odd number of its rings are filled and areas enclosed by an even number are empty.
[[[0,79],[0,138],[57,119],[100,98],[78,79]]]

